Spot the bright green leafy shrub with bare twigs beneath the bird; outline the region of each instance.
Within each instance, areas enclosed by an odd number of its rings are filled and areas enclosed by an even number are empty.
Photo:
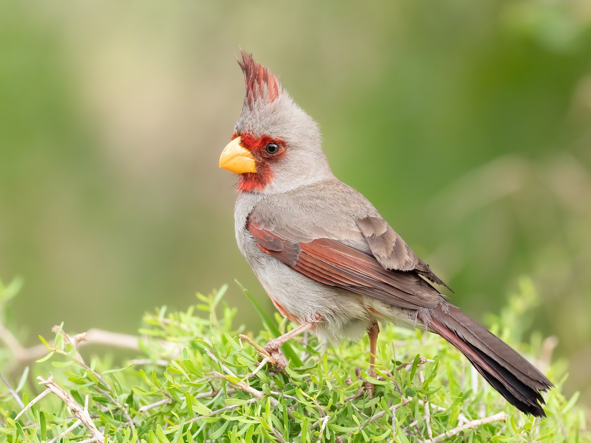
[[[410,442],[430,436],[441,442],[591,441],[584,413],[574,404],[577,396],[561,393],[566,365],[544,367],[551,342],[537,334],[518,349],[541,355],[538,364],[556,383],[545,394],[547,418],[508,405],[437,335],[400,327],[382,327],[375,396],[369,398],[359,378],[368,369],[367,338],[325,346],[312,335],[297,337],[284,348],[291,358],[285,373],[274,374],[239,337],[243,327],[235,325],[236,310],[222,301],[225,291],[226,286],[208,297],[197,294],[197,304],[185,312],[163,307],[145,315],[137,341],[111,337],[113,345],[138,346],[122,366],[113,366],[110,352],[83,357],[85,336],[56,327],[55,338],[41,338],[49,354],[0,391],[0,442],[89,442],[93,435],[119,443]],[[492,330],[517,344],[523,328],[514,325],[527,325],[535,300],[525,281]],[[259,312],[265,330],[246,333],[256,343],[293,327],[278,314]],[[89,331],[86,338],[92,343],[99,335]],[[6,358],[8,350],[2,352]],[[31,383],[35,377],[44,381]],[[15,419],[44,385],[52,391]],[[59,389],[70,408],[56,395]]]

